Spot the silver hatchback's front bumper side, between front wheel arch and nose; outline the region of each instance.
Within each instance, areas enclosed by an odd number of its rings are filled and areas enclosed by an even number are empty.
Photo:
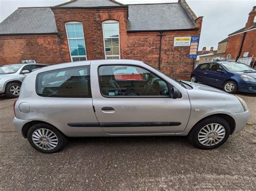
[[[235,121],[235,129],[233,134],[240,132],[242,129],[245,128],[248,119],[250,117],[250,112],[245,111],[237,114],[230,114],[231,117],[233,117]]]

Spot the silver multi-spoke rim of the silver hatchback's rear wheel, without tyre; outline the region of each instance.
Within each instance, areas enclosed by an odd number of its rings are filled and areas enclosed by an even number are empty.
[[[58,137],[49,129],[37,129],[32,133],[33,143],[43,149],[52,150],[58,145]]]

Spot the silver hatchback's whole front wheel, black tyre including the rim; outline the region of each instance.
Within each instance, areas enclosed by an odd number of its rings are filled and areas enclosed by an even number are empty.
[[[230,136],[230,125],[219,116],[213,116],[197,123],[188,135],[190,142],[201,149],[217,148]]]

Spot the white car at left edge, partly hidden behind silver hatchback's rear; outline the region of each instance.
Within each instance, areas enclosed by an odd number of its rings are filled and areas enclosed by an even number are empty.
[[[0,67],[0,94],[14,98],[19,96],[22,81],[33,70],[45,67],[42,64],[13,64]]]

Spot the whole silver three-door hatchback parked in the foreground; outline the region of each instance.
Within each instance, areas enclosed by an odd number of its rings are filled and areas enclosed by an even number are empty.
[[[237,96],[171,79],[141,61],[92,60],[29,74],[14,105],[16,129],[43,153],[67,137],[188,136],[211,149],[249,117]]]

